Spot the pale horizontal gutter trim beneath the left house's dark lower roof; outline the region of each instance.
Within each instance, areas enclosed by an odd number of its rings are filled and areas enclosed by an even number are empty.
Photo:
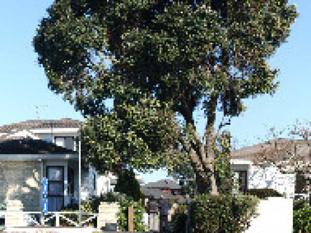
[[[78,159],[78,154],[0,154],[1,160]]]

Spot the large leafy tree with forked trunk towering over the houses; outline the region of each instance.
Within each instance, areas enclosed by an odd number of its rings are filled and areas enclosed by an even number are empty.
[[[287,0],[55,0],[48,13],[35,51],[49,88],[89,116],[87,160],[141,171],[187,161],[199,193],[212,194],[217,104],[238,116],[242,99],[275,92],[266,60],[297,17]]]

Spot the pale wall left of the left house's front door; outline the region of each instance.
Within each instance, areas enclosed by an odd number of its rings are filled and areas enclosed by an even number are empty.
[[[0,162],[0,204],[20,200],[23,211],[40,211],[41,166],[37,161]]]

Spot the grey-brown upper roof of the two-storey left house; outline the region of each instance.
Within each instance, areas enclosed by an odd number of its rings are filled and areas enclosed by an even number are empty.
[[[59,120],[26,120],[19,123],[0,126],[0,133],[12,133],[20,130],[45,129],[45,128],[79,128],[82,122],[71,118]]]

